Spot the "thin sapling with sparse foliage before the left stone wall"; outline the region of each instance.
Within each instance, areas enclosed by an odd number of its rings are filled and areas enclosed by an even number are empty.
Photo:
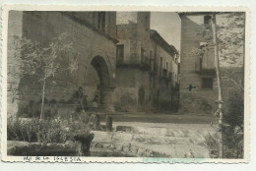
[[[20,60],[21,75],[37,78],[42,85],[40,119],[43,116],[46,81],[60,72],[63,56],[69,54],[73,59],[70,60],[69,67],[62,71],[72,72],[77,69],[78,62],[76,56],[71,54],[71,49],[72,43],[67,33],[61,33],[46,46],[31,39],[15,37],[15,57]]]

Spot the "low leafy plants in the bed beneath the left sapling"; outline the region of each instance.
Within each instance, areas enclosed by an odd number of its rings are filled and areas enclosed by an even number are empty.
[[[48,119],[39,120],[9,118],[7,125],[8,141],[23,142],[66,142],[73,141],[74,135],[80,133],[90,133],[88,122],[85,116],[77,120]]]

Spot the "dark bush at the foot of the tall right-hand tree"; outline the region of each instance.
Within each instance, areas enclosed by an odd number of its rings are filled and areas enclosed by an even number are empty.
[[[226,101],[226,110],[224,111],[223,125],[223,145],[224,158],[243,158],[243,140],[244,140],[244,99],[243,86],[237,85],[231,88],[228,92]],[[217,136],[207,136],[206,145],[212,151],[219,150],[219,140]],[[211,157],[219,157],[219,152],[216,152]]]

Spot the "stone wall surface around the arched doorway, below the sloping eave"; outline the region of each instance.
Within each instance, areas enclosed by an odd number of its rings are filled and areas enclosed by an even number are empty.
[[[86,18],[93,16],[92,12],[85,13]],[[84,13],[83,13],[84,14]],[[80,13],[82,15],[82,13]],[[88,17],[89,16],[89,17]],[[10,12],[9,17],[9,32],[8,45],[14,43],[11,38],[14,34],[36,40],[43,45],[50,43],[53,37],[59,36],[62,32],[66,32],[70,37],[70,42],[73,43],[72,53],[78,59],[78,70],[73,73],[66,71],[65,73],[57,73],[54,82],[56,85],[51,86],[49,80],[46,83],[45,97],[48,100],[68,100],[79,86],[83,86],[89,99],[95,95],[98,84],[96,70],[91,65],[94,57],[100,56],[107,66],[105,73],[109,75],[109,85],[114,86],[115,73],[115,57],[116,57],[116,40],[110,35],[114,35],[115,31],[115,13],[108,15],[110,23],[107,27],[108,32],[100,32],[90,23],[74,19],[74,16],[67,15],[61,12]],[[111,29],[113,28],[113,29]],[[111,30],[110,30],[111,29]],[[93,40],[93,41],[92,41]],[[11,47],[11,46],[8,46]],[[8,49],[8,68],[10,74],[8,76],[8,84],[12,81],[12,70],[15,66],[15,58],[12,55],[12,50]],[[69,57],[63,56],[61,62],[62,68],[67,68]],[[19,65],[19,64],[18,64]],[[15,71],[19,74],[19,71]],[[11,106],[19,104],[20,111],[31,101],[38,102],[41,97],[41,85],[37,80],[29,80],[28,78],[19,78],[19,96]],[[8,95],[8,99],[9,99]],[[16,113],[16,110],[8,112]]]

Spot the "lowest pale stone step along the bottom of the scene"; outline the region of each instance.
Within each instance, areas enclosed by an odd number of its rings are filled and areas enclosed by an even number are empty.
[[[92,150],[109,149],[137,157],[209,158],[209,151],[193,144],[144,144],[138,142],[93,142]]]

